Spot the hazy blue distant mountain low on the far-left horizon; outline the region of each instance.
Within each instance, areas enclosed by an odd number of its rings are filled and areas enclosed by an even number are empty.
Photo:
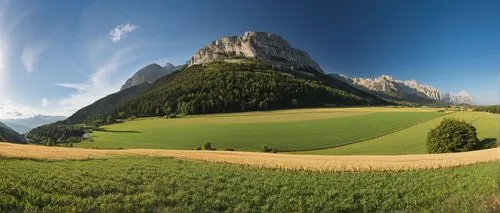
[[[64,119],[66,119],[64,116],[36,115],[29,118],[3,119],[1,121],[15,131],[24,134],[35,127]]]

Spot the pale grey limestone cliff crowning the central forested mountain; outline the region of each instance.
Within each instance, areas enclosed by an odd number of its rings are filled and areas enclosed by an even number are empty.
[[[321,67],[305,51],[295,49],[277,34],[245,32],[243,36],[219,38],[198,50],[188,66],[233,58],[256,58],[275,68],[308,73],[323,73]]]

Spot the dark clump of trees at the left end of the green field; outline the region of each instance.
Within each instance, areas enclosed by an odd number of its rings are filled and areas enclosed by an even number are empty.
[[[90,131],[91,128],[85,125],[49,124],[31,130],[26,137],[31,143],[51,146],[62,143],[80,142],[82,136]]]

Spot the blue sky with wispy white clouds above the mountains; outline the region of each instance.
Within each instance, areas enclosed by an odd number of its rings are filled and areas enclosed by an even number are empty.
[[[147,64],[249,30],[280,34],[326,72],[499,103],[499,23],[498,0],[0,0],[0,118],[69,115]]]

